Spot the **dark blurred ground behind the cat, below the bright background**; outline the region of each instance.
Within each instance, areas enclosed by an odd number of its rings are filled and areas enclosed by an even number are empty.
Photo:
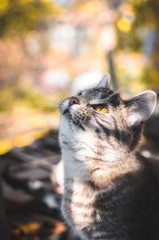
[[[60,212],[63,174],[57,167],[61,160],[57,134],[50,132],[0,157],[8,239],[75,240]],[[149,139],[141,154],[159,161],[158,144]]]

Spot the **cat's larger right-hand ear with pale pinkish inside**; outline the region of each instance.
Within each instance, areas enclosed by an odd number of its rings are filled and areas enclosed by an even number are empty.
[[[156,93],[145,91],[128,102],[128,124],[138,126],[145,122],[153,113],[156,106]]]

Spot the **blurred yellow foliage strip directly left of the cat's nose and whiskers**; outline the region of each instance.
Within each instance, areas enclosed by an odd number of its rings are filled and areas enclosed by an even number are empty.
[[[52,113],[56,111],[57,102],[55,98],[59,98],[57,93],[54,98],[46,96],[44,93],[37,91],[34,86],[25,87],[18,86],[18,84],[7,85],[0,91],[0,112],[11,111],[15,106],[36,108],[45,113]]]

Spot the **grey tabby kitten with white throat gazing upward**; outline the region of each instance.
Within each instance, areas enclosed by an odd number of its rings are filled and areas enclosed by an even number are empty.
[[[105,74],[95,88],[59,103],[62,213],[83,240],[157,240],[157,170],[138,153],[156,94],[123,100],[109,85]]]

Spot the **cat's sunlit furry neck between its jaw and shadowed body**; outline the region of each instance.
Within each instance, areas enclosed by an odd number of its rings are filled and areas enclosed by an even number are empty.
[[[136,157],[135,153],[129,153],[125,158],[109,162],[93,158],[80,161],[74,158],[73,155],[68,154],[63,156],[63,160],[65,179],[81,182],[91,181],[99,188],[110,187],[116,178],[129,173],[137,173],[143,168],[142,161]]]

